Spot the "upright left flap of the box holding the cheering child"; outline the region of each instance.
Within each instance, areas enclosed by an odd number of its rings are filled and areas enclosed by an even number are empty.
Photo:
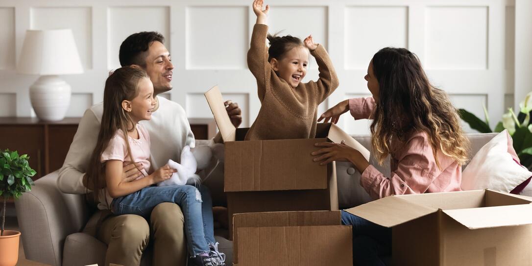
[[[226,111],[226,106],[223,104],[223,96],[220,93],[218,86],[209,89],[205,94],[207,103],[211,108],[214,120],[220,129],[224,142],[234,142],[236,137],[236,128],[231,123],[231,119]]]

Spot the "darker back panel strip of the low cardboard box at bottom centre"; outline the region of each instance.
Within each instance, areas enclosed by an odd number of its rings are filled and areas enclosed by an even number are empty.
[[[284,227],[341,225],[340,211],[256,212],[233,215],[233,227]],[[233,261],[238,263],[238,235],[233,239]]]

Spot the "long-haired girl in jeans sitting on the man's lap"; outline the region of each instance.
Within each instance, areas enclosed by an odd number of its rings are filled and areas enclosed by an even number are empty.
[[[145,219],[159,203],[178,204],[185,217],[187,246],[194,265],[225,265],[225,255],[218,253],[214,240],[209,191],[204,186],[152,186],[169,179],[176,170],[168,165],[156,171],[150,168],[149,135],[139,124],[151,119],[155,107],[153,84],[147,74],[129,67],[114,71],[105,82],[103,106],[98,142],[87,172],[94,187],[105,182],[103,201],[115,215],[137,214]],[[129,163],[140,164],[143,176],[124,180],[122,167]]]

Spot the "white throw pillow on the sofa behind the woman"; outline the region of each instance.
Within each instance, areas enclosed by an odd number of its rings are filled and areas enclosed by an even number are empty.
[[[490,140],[475,154],[462,172],[462,190],[493,189],[509,193],[532,176],[514,161],[516,152],[508,130]]]

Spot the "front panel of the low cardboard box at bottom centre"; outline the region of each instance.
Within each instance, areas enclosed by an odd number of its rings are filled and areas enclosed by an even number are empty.
[[[243,227],[238,237],[238,265],[353,265],[350,226]]]

